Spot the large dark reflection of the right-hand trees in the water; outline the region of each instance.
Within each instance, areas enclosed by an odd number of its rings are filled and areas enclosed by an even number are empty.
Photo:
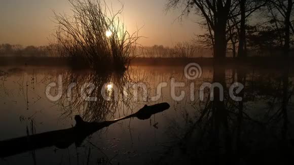
[[[213,101],[206,91],[206,100],[194,104],[200,113],[161,163],[292,164],[293,77],[289,67],[268,73],[236,68],[228,74],[219,65],[213,70],[212,83],[223,85],[224,101],[220,101],[221,90],[213,89]],[[245,85],[237,94],[240,102],[229,96],[228,88],[235,81]]]

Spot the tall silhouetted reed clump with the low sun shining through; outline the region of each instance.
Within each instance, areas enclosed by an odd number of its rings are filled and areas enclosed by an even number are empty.
[[[54,34],[62,57],[73,65],[95,69],[125,70],[139,39],[129,33],[120,19],[122,8],[114,12],[100,0],[68,0],[72,15],[55,13]]]

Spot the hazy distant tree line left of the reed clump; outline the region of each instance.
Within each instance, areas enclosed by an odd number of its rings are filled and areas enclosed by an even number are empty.
[[[27,46],[1,44],[0,56],[5,57],[58,57],[59,53],[55,45]]]

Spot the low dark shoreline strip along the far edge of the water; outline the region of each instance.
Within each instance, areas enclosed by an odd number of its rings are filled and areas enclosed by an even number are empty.
[[[213,65],[213,58],[144,58],[137,57],[131,62],[131,66],[183,66],[189,63],[198,63],[202,66]],[[64,57],[0,57],[0,66],[69,66],[70,60]],[[217,64],[226,67],[256,66],[275,68],[284,66],[286,63],[294,62],[294,57],[284,60],[283,57],[246,57],[242,60],[238,58],[226,57],[222,60],[215,60]],[[79,63],[77,63],[79,65]]]

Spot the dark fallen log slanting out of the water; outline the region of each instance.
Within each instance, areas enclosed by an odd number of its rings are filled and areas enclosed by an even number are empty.
[[[112,125],[115,122],[131,117],[148,119],[153,114],[162,112],[168,108],[168,103],[160,103],[151,106],[145,105],[134,114],[115,120],[102,122],[86,122],[82,119],[81,116],[76,115],[76,126],[73,128],[0,141],[0,157],[8,157],[26,151],[50,146],[56,146],[57,148],[67,148],[73,143],[76,143],[77,146],[80,146],[86,137],[90,136],[96,131]]]

